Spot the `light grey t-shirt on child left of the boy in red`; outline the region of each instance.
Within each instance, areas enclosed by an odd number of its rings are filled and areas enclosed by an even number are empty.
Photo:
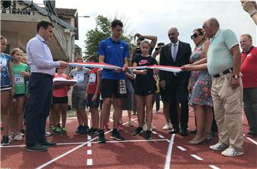
[[[77,81],[76,85],[73,87],[74,92],[86,92],[86,85],[89,83],[89,68],[82,68],[80,71],[77,68],[71,70],[70,76]]]

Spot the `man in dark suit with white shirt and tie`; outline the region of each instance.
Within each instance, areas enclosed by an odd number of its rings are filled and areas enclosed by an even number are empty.
[[[191,47],[188,43],[178,41],[178,29],[168,29],[171,43],[161,49],[160,65],[183,66],[189,63]],[[169,118],[173,129],[169,133],[178,133],[177,103],[181,104],[181,135],[188,135],[188,79],[190,72],[173,73],[160,71],[161,88],[166,89],[169,97]]]

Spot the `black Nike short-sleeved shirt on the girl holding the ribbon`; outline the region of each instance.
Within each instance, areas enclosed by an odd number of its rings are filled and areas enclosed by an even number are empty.
[[[137,64],[137,66],[151,66],[151,65],[158,65],[155,58],[152,56],[143,57],[138,56],[133,60],[134,63]],[[147,69],[147,73],[145,75],[138,74],[136,75],[136,85],[148,85],[153,83],[153,85],[156,85],[156,81],[153,78],[153,69]]]

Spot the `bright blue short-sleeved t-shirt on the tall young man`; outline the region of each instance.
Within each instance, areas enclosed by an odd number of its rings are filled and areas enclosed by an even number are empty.
[[[98,46],[98,54],[104,56],[104,63],[115,66],[124,66],[124,58],[129,58],[129,44],[125,41],[113,41],[113,39],[105,39],[101,41]],[[115,70],[104,68],[103,78],[106,79],[126,79],[125,73],[116,73]]]

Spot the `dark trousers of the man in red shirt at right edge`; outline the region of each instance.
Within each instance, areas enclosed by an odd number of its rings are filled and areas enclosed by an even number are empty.
[[[243,88],[243,103],[249,131],[257,134],[257,88]]]

